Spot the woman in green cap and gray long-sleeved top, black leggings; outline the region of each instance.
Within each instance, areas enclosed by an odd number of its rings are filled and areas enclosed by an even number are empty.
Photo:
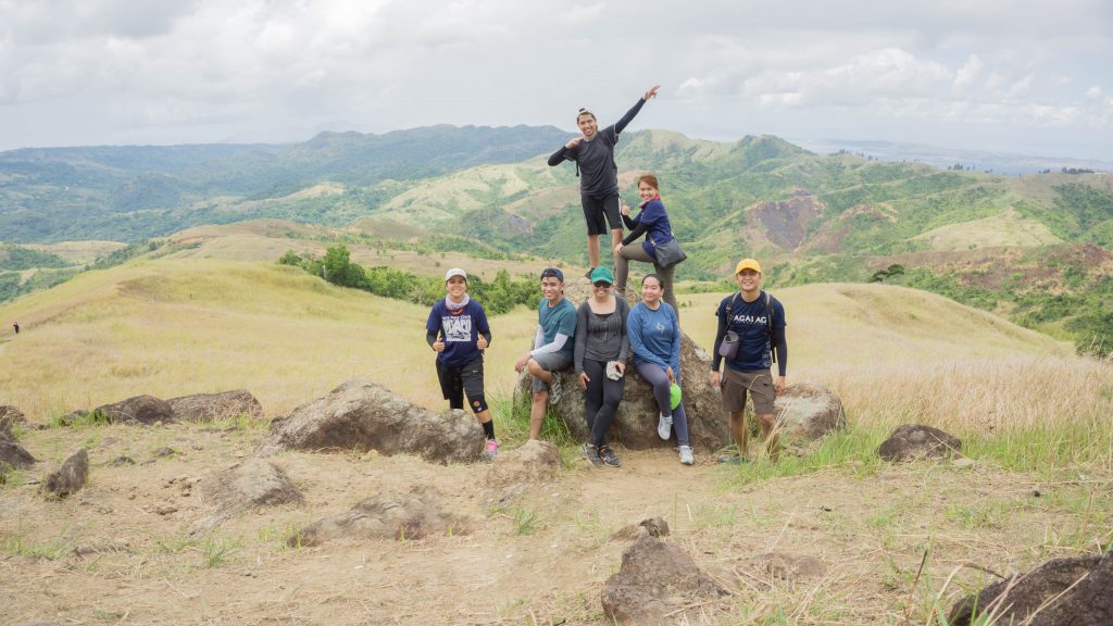
[[[583,388],[583,415],[588,442],[583,456],[594,466],[619,467],[622,461],[607,443],[607,429],[614,421],[626,389],[626,361],[630,353],[626,319],[630,305],[611,293],[614,275],[608,267],[591,272],[593,295],[577,311],[573,363]]]

